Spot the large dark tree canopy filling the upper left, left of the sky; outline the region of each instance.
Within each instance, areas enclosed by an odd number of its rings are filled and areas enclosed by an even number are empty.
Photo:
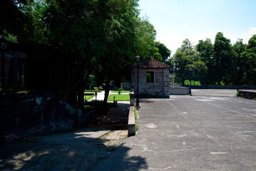
[[[73,94],[78,92],[81,108],[90,74],[98,86],[106,85],[108,98],[110,83],[120,86],[130,75],[127,71],[135,56],[148,58],[156,47],[163,61],[170,56],[163,44],[155,43],[154,26],[138,17],[137,0],[4,0],[1,4],[9,16],[1,22],[1,33],[12,33],[22,43],[53,46],[63,54],[68,85]],[[13,29],[16,24],[18,30]]]

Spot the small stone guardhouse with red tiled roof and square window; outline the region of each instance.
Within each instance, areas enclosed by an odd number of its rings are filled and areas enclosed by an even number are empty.
[[[138,93],[153,98],[169,98],[170,66],[153,58],[140,62],[138,66]],[[137,66],[131,73],[131,88],[137,93]]]

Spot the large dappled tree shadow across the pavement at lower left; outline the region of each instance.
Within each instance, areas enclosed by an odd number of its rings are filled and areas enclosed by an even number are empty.
[[[111,140],[98,138],[105,132],[106,128],[86,128],[18,140],[1,147],[0,170],[95,170],[104,163],[103,168],[116,170],[148,167],[143,157],[127,157],[129,147],[109,145]],[[118,160],[106,162],[113,157]]]

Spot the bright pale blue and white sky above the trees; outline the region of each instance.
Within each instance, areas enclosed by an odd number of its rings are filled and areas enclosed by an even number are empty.
[[[247,43],[256,34],[256,0],[140,0],[140,17],[147,17],[157,32],[156,41],[173,54],[185,38],[195,46],[222,32],[231,43]]]

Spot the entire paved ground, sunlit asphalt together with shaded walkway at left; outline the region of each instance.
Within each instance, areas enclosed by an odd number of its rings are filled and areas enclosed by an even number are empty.
[[[0,149],[0,170],[255,171],[256,101],[235,93],[141,99],[134,137],[86,128],[27,138]]]

